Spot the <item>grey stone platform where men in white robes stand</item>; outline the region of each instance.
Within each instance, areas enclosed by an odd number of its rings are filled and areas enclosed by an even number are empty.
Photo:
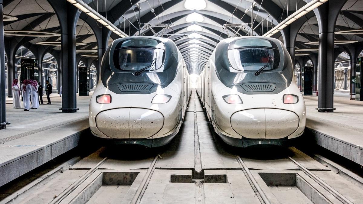
[[[13,109],[6,101],[7,121],[0,134],[0,186],[76,147],[83,130],[89,128],[90,96],[77,96],[77,113],[66,114],[61,97],[51,94],[52,105],[39,109]],[[44,103],[47,102],[43,97]]]

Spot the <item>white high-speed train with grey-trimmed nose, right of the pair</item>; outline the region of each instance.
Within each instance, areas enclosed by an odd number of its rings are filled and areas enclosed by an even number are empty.
[[[197,79],[197,93],[214,130],[232,146],[282,145],[303,134],[304,99],[277,39],[219,42]]]

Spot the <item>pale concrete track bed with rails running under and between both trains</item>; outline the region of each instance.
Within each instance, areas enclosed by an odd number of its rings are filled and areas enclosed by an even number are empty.
[[[158,152],[101,148],[0,204],[363,203],[362,188],[294,147],[260,158],[229,149],[213,137],[195,93],[189,107],[179,136]]]

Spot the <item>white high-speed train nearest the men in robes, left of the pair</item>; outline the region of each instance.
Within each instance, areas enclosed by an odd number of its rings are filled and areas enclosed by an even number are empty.
[[[91,98],[93,135],[114,143],[158,147],[178,133],[191,94],[175,43],[161,37],[115,40],[102,58]]]

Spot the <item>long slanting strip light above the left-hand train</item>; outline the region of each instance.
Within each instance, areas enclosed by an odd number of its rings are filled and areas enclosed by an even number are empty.
[[[92,9],[89,5],[84,3],[82,0],[67,0],[69,3],[73,4],[75,7],[77,7],[79,10],[85,12],[87,15],[89,15],[94,20],[98,21],[102,25],[104,25],[106,28],[114,32],[120,37],[127,37],[128,35],[124,32],[122,32],[120,29],[118,29],[113,23],[111,23],[109,20],[107,20],[105,17],[103,17],[101,14],[99,14],[97,11]]]

